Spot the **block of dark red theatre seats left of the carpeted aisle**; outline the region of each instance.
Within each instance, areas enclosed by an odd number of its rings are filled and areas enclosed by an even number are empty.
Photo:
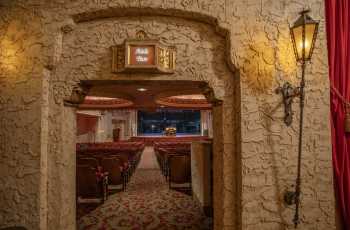
[[[78,203],[103,202],[110,192],[124,191],[143,149],[140,142],[77,144]]]

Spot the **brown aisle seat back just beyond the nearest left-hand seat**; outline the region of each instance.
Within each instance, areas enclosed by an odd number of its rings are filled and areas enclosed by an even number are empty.
[[[123,184],[121,168],[122,163],[116,157],[103,158],[101,160],[103,172],[108,172],[108,184],[119,185]]]

